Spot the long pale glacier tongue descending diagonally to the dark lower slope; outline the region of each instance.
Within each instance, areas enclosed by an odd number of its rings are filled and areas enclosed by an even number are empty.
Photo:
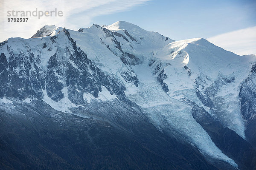
[[[199,148],[207,155],[228,162],[234,167],[238,165],[212,142],[207,132],[195,121],[191,107],[166,94],[159,82],[151,74],[150,68],[143,65],[134,66],[140,81],[137,89],[128,88],[125,94],[137,105],[141,106],[151,121],[160,130],[171,130]]]

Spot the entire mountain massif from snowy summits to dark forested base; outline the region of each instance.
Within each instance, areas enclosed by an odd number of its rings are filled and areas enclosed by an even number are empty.
[[[2,169],[256,168],[256,56],[125,21],[0,43]]]

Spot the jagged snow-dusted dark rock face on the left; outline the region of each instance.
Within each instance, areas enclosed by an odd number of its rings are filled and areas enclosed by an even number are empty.
[[[3,75],[0,94],[2,97],[41,98],[43,89],[53,101],[58,102],[64,98],[63,90],[67,87],[70,101],[79,105],[84,103],[84,92],[98,97],[99,91],[102,91],[101,85],[104,85],[112,94],[120,96],[120,99],[124,96],[125,87],[117,85],[113,79],[109,79],[99,68],[96,68],[86,54],[77,48],[69,32],[65,30],[64,33],[68,45],[64,49],[57,48],[49,58],[45,71],[38,64],[40,58],[35,57],[32,52],[29,56],[22,53],[13,54],[9,63],[5,54],[1,54],[0,71],[3,71]],[[61,43],[57,36],[51,37],[50,41],[54,46]],[[19,72],[16,71],[17,69]],[[111,85],[112,83],[115,85]]]

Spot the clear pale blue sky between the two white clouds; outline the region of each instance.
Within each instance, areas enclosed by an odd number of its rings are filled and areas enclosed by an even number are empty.
[[[208,38],[256,26],[256,0],[152,0],[92,20],[99,25],[124,20],[174,40]]]

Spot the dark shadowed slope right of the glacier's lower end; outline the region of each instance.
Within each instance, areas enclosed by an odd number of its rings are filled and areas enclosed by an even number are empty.
[[[198,105],[192,108],[195,120],[207,131],[212,141],[223,153],[237,162],[241,169],[255,168],[256,151],[253,147],[228,127],[223,127],[220,122],[212,117]]]

